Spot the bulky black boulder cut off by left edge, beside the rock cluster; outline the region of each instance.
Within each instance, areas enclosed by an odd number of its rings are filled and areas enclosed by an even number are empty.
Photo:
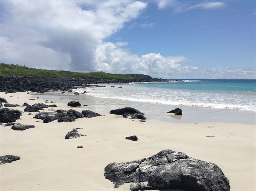
[[[0,123],[15,122],[20,119],[20,115],[21,111],[19,110],[0,109]]]

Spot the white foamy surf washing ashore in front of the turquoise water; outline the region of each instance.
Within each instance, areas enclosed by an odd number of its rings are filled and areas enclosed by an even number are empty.
[[[131,84],[122,84],[123,88],[117,88],[120,84],[104,84],[105,88],[77,88],[75,91],[82,93],[86,90],[91,96],[119,100],[256,111],[255,93],[150,88]]]

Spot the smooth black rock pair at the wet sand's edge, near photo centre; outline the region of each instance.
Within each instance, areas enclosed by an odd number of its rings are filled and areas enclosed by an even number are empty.
[[[120,109],[116,109],[116,110],[111,110],[109,112],[110,112],[110,114],[122,115],[124,118],[142,119],[142,120],[146,119],[144,117],[144,113],[142,113],[139,110],[136,110],[132,107],[120,108]]]

